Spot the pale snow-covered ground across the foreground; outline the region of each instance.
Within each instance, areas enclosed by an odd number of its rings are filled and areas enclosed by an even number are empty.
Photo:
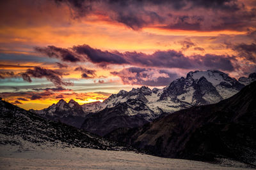
[[[230,162],[225,162],[230,164]],[[234,165],[234,162],[231,162]],[[236,162],[236,166],[243,166]],[[61,143],[0,146],[0,169],[243,169],[134,152],[70,148]]]

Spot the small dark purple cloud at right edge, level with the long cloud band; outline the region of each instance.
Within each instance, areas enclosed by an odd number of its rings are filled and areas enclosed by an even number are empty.
[[[232,45],[232,50],[239,53],[239,57],[245,57],[247,60],[256,63],[256,44],[245,44]]]

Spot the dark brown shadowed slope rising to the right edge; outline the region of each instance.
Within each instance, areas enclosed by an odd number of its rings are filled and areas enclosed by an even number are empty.
[[[207,161],[225,157],[256,166],[255,103],[256,81],[220,103],[180,110],[107,136],[163,157]]]

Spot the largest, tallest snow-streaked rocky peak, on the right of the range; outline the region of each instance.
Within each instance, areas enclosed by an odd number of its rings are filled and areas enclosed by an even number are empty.
[[[186,78],[172,81],[163,90],[160,101],[184,101],[190,104],[216,103],[230,97],[244,87],[236,78],[231,78],[221,71],[191,71]]]

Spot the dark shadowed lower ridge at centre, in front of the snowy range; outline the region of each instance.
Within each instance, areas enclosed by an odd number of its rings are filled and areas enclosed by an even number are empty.
[[[127,111],[131,111],[131,114],[126,113]],[[138,127],[149,122],[148,111],[150,110],[143,102],[131,99],[113,108],[91,113],[84,120],[81,129],[104,136],[119,127]]]

